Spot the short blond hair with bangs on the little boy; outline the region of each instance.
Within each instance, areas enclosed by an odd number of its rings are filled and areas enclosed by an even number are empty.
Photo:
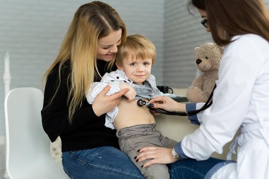
[[[146,37],[135,34],[126,37],[126,41],[121,44],[119,48],[116,63],[122,66],[122,61],[126,58],[131,57],[133,59],[146,59],[151,58],[152,64],[155,63],[156,58],[156,48],[154,44]]]

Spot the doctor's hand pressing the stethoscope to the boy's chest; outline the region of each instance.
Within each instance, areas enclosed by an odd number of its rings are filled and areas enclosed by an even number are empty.
[[[186,104],[178,103],[167,96],[153,98],[152,100],[150,100],[150,103],[154,104],[154,108],[161,108],[170,112],[186,111]]]

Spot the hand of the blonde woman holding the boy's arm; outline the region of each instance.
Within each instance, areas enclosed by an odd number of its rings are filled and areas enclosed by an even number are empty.
[[[101,116],[111,111],[120,102],[120,97],[130,90],[129,88],[125,88],[121,92],[107,96],[109,89],[110,85],[107,85],[104,89],[102,89],[92,104],[92,109],[96,116]]]

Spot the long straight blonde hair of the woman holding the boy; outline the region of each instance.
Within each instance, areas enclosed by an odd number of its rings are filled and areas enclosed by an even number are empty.
[[[76,11],[57,58],[44,74],[46,81],[54,66],[59,63],[58,86],[49,106],[58,91],[63,64],[70,60],[71,73],[67,80],[70,123],[75,110],[81,107],[90,84],[94,82],[96,72],[99,74],[96,64],[97,40],[120,29],[121,41],[124,42],[127,34],[125,24],[115,9],[106,3],[91,2],[80,6]],[[109,62],[108,68],[111,69],[114,62],[115,58]]]

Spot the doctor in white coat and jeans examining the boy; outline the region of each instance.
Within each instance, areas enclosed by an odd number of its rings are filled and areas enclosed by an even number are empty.
[[[190,116],[200,127],[173,149],[141,148],[138,162],[168,164],[172,178],[269,178],[269,13],[262,0],[193,0],[206,31],[224,46],[213,104]],[[190,111],[168,97],[150,101],[168,111]],[[161,102],[161,104],[159,104]],[[210,158],[240,129],[227,161]],[[231,154],[237,148],[237,161]],[[177,162],[176,162],[177,161]]]

